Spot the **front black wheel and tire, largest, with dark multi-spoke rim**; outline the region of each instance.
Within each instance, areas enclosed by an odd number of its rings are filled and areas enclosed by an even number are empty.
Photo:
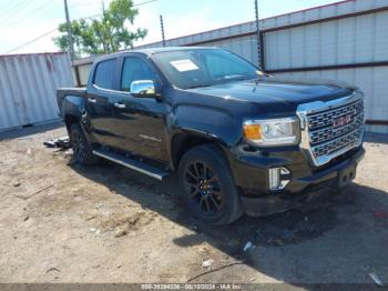
[[[227,224],[243,214],[229,165],[215,144],[197,146],[181,159],[181,193],[187,209],[207,224]]]

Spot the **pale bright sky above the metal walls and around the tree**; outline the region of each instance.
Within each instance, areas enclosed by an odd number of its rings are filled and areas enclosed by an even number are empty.
[[[101,13],[102,1],[68,0],[71,19]],[[258,0],[259,18],[268,18],[339,0]],[[255,20],[254,0],[133,0],[139,14],[131,29],[146,28],[145,39],[135,44],[161,40],[160,14],[165,38],[177,38]],[[0,54],[52,52],[52,39],[64,22],[63,0],[0,0]],[[43,37],[42,37],[43,36]],[[39,39],[38,39],[39,38]],[[38,39],[38,40],[37,40]]]

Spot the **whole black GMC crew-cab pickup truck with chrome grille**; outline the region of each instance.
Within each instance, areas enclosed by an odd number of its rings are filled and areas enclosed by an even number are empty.
[[[325,80],[268,76],[217,48],[98,59],[86,89],[59,89],[78,162],[100,158],[162,180],[188,210],[224,224],[294,208],[356,174],[364,96]]]

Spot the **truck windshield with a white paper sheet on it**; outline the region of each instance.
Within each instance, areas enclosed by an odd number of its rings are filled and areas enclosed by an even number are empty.
[[[165,51],[152,56],[171,83],[181,89],[257,78],[257,68],[221,49]]]

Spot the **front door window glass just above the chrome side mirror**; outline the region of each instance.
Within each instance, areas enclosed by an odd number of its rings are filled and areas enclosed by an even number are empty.
[[[125,58],[121,77],[121,90],[129,92],[131,83],[139,80],[152,80],[156,83],[157,78],[145,60],[136,57]]]

